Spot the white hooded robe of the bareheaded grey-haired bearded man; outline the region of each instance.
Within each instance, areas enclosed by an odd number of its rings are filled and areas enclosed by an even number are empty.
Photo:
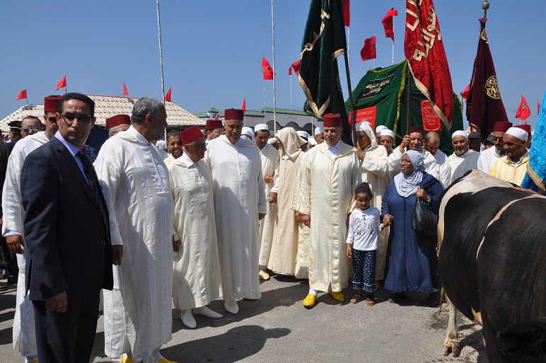
[[[109,357],[127,353],[128,340],[139,362],[172,338],[175,231],[166,156],[131,126],[110,137],[95,161],[112,245],[123,246],[122,264],[113,267],[114,290],[104,290]]]

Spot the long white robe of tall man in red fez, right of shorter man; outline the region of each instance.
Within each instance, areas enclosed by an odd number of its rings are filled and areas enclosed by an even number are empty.
[[[212,174],[216,235],[226,301],[259,299],[258,213],[266,213],[260,151],[245,139],[239,146],[226,135],[209,142],[204,161]]]

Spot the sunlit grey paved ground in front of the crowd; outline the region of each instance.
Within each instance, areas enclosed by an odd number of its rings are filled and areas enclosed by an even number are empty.
[[[388,302],[390,292],[376,293],[375,306],[343,304],[320,294],[307,310],[305,280],[274,277],[262,282],[262,299],[240,301],[233,316],[221,301],[210,304],[224,318],[197,317],[197,328],[185,328],[173,309],[173,340],[161,350],[176,362],[370,362],[370,363],[486,363],[481,328],[467,319],[459,322],[460,357],[444,357],[442,344],[447,305],[438,309],[416,306],[426,296],[410,294],[406,304]],[[350,289],[344,291],[349,298]],[[0,362],[23,362],[11,345],[15,291],[0,294]],[[104,356],[103,318],[100,317],[93,362]]]

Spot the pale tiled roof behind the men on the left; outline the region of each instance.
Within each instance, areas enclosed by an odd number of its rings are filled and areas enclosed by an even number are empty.
[[[97,117],[95,125],[98,125],[98,127],[104,127],[106,119],[109,117],[120,115],[122,113],[130,116],[133,110],[133,105],[136,100],[138,100],[138,98],[132,97],[97,95],[87,96],[95,101],[95,117]],[[168,127],[170,128],[185,129],[193,125],[197,125],[199,127],[204,127],[205,125],[204,120],[192,115],[192,113],[187,112],[175,103],[165,102],[165,109],[167,110],[167,123]],[[8,122],[22,120],[27,116],[36,116],[42,120],[43,115],[44,105],[24,105],[11,115],[5,117],[4,120],[0,120],[0,129],[2,132],[8,132]]]

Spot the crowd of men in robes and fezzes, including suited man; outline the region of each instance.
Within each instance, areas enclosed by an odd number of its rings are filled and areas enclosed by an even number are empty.
[[[223,317],[207,307],[213,300],[237,314],[240,299],[260,299],[271,273],[308,279],[309,309],[318,292],[344,301],[357,185],[369,183],[381,209],[406,150],[422,154],[443,188],[474,168],[520,185],[528,163],[530,129],[509,122],[496,122],[489,149],[472,142],[479,133],[453,132],[446,156],[438,134],[419,127],[394,146],[392,130],[364,120],[353,147],[339,115],[324,115],[311,142],[291,127],[274,138],[265,124],[248,132],[236,109],[204,132],[169,132],[165,152],[153,143],[165,107],[144,97],[130,117],[107,120],[92,164],[94,107],[81,93],[48,96],[42,122],[11,122],[0,146],[1,251],[17,284],[13,345],[25,362],[88,362],[101,294],[105,354],[129,363],[170,362],[159,349],[172,338],[172,304],[195,328],[194,314]],[[378,282],[388,233],[378,236]]]

